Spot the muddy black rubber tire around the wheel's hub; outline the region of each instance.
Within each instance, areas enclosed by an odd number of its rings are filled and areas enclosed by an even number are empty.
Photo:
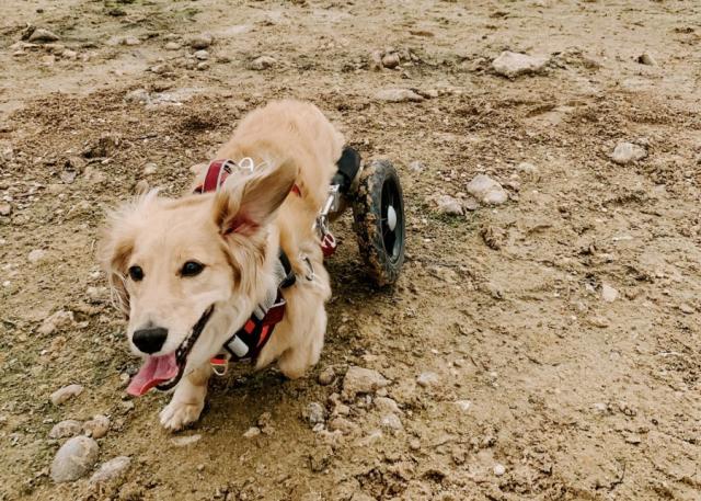
[[[395,202],[398,234],[395,248],[398,252],[391,255],[382,238],[382,187],[384,183],[393,183],[399,204]],[[388,160],[374,160],[363,169],[358,180],[358,189],[353,196],[353,229],[358,239],[358,249],[365,261],[368,274],[378,286],[391,285],[399,278],[404,263],[405,227],[404,200],[399,175]]]

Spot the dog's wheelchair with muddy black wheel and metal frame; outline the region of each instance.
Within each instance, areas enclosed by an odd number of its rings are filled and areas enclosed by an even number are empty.
[[[336,166],[315,224],[324,257],[336,248],[330,223],[350,205],[353,229],[369,277],[378,286],[391,285],[404,262],[405,241],[404,200],[397,170],[388,160],[364,164],[349,147],[344,148]]]

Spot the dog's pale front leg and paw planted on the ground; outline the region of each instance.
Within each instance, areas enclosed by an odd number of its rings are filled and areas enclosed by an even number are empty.
[[[205,364],[183,378],[171,402],[161,411],[161,424],[165,429],[177,431],[199,419],[205,407],[209,376],[211,366]]]

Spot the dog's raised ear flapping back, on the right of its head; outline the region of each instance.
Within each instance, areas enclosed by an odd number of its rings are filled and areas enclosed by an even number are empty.
[[[297,179],[297,167],[283,162],[276,168],[263,168],[217,193],[214,205],[215,224],[221,235],[251,236],[265,226],[285,202]]]

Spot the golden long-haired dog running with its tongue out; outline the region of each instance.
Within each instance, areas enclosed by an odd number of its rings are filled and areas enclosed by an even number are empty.
[[[166,198],[153,190],[108,215],[100,259],[130,349],[143,358],[127,391],[174,387],[160,413],[165,429],[199,419],[212,358],[235,352],[241,339],[222,346],[261,305],[279,314],[284,303],[284,316],[262,349],[243,346],[256,351],[255,369],[277,362],[298,378],[319,361],[331,286],[314,224],[343,146],[313,104],[273,102],[245,116],[217,152],[233,168],[215,190],[202,189],[211,175],[204,166],[193,184],[202,193]]]

